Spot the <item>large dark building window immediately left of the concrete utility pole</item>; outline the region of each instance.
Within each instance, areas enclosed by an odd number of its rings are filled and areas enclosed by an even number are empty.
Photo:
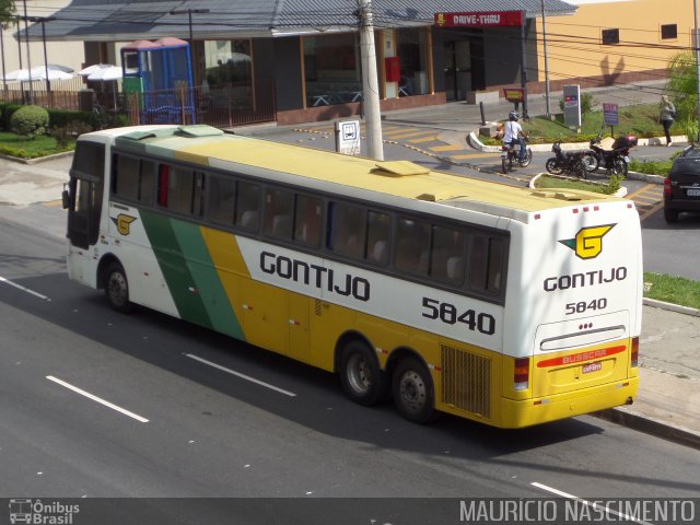
[[[307,107],[362,101],[357,33],[304,37]]]

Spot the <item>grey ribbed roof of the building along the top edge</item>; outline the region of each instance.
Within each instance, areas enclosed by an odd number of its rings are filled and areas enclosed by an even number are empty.
[[[527,18],[541,16],[541,0],[372,1],[377,28],[432,25],[436,12],[512,11],[521,5]],[[191,15],[196,39],[273,37],[354,31],[357,10],[357,0],[73,0],[44,25],[47,40],[188,39]],[[575,11],[575,5],[562,0],[545,0],[547,16]],[[42,40],[40,24],[30,27],[30,39]]]

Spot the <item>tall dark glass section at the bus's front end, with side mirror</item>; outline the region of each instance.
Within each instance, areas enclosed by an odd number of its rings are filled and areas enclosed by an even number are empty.
[[[63,208],[68,209],[67,236],[75,247],[88,249],[100,236],[104,172],[104,144],[79,142],[70,168],[69,189],[63,191]]]

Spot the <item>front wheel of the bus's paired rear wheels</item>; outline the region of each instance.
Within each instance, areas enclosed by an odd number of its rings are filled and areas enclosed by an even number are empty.
[[[348,342],[340,351],[340,385],[346,396],[365,407],[388,397],[386,374],[380,369],[376,355],[360,340]]]

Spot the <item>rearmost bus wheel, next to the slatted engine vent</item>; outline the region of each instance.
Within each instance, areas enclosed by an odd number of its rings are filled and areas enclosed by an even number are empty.
[[[438,416],[435,393],[430,372],[417,358],[401,360],[392,378],[394,402],[409,421],[425,424]]]

